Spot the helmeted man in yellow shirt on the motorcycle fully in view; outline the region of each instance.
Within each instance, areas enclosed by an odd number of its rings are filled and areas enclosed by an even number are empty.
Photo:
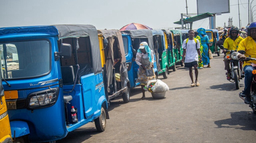
[[[225,70],[227,70],[227,80],[231,79],[230,62],[229,62],[229,59],[227,58],[227,56],[230,56],[230,52],[228,50],[230,51],[237,50],[240,41],[244,39],[238,36],[239,29],[236,26],[231,27],[229,32],[230,32],[229,33],[230,36],[224,41],[224,44],[223,44],[223,47],[224,47],[223,52],[226,53],[226,56],[224,57],[224,64],[225,64]]]

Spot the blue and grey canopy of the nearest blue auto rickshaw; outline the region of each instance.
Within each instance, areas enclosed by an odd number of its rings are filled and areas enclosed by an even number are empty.
[[[93,72],[94,74],[102,72],[98,33],[93,25],[42,25],[0,28],[0,37],[2,38],[8,38],[9,35],[14,34],[45,34],[58,36],[58,39],[89,36],[92,51]]]

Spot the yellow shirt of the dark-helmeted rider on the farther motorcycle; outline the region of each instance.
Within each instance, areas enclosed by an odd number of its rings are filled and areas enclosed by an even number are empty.
[[[240,41],[242,41],[242,37],[238,36],[236,38],[236,40],[234,41],[233,39],[231,39],[230,37],[228,37],[225,41],[224,41],[224,48],[228,49],[228,50],[236,50],[238,48],[238,45],[240,43]],[[229,54],[230,52],[227,52],[227,54]]]

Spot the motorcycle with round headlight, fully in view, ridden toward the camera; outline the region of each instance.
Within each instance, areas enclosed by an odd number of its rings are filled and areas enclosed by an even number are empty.
[[[221,49],[225,48],[223,45],[220,45]],[[227,50],[227,49],[226,49]],[[227,56],[227,59],[230,61],[230,82],[235,82],[236,89],[240,88],[239,82],[240,79],[244,78],[244,71],[243,71],[243,62],[239,61],[237,55],[239,54],[236,50],[227,50],[225,53],[230,52],[230,56]]]

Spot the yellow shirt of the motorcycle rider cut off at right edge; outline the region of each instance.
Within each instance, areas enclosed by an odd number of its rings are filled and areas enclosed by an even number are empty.
[[[248,55],[250,55],[252,58],[256,58],[256,43],[250,36],[246,37],[240,42],[237,50],[244,50],[246,53],[246,57],[249,57]],[[256,61],[245,61],[243,67],[246,65],[250,65],[250,63],[256,64]]]

